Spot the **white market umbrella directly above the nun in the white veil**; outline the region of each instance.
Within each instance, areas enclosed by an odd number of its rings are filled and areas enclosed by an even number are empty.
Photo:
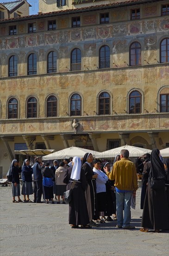
[[[50,155],[45,155],[42,157],[42,160],[55,160],[55,159],[64,159],[74,156],[83,157],[86,153],[91,153],[94,157],[99,158],[101,153],[94,150],[89,150],[86,148],[77,148],[77,147],[70,147],[64,148],[62,150],[56,151]]]

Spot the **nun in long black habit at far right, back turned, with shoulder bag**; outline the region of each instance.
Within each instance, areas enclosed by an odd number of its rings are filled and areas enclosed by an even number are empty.
[[[163,179],[167,183],[164,170],[164,164],[160,160],[160,151],[154,148],[151,152],[151,168],[148,179],[148,186],[145,195],[143,216],[140,229],[142,232],[148,232],[148,229],[154,229],[159,232],[160,229],[169,229],[169,205],[167,202],[167,193],[165,185],[160,189],[150,188],[150,179]]]

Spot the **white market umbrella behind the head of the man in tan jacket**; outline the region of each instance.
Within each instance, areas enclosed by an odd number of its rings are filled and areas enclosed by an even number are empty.
[[[113,148],[113,149],[102,152],[101,153],[102,155],[100,156],[100,158],[112,158],[112,157],[115,157],[116,155],[120,155],[120,151],[122,149],[127,149],[130,153],[129,154],[130,157],[138,157],[146,153],[149,153],[149,154],[151,153],[150,149],[125,145],[119,148]]]

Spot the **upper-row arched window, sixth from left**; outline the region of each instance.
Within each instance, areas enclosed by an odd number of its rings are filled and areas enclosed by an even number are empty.
[[[130,46],[130,66],[141,65],[141,45],[134,42]]]

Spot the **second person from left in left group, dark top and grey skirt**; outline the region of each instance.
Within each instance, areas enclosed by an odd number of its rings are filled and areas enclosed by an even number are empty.
[[[29,195],[33,194],[33,187],[32,187],[32,174],[33,169],[31,168],[29,159],[25,159],[23,166],[22,166],[22,191],[21,194],[24,197],[24,202],[32,202],[29,198]],[[27,200],[25,198],[27,196]]]

